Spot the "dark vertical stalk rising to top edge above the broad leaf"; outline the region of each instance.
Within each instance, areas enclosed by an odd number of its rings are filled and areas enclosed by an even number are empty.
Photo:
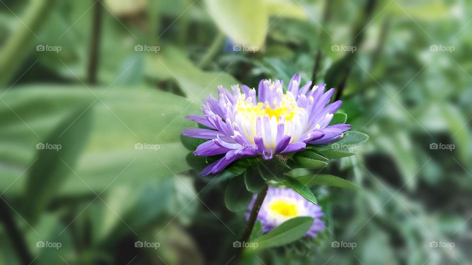
[[[102,27],[102,10],[102,3],[100,1],[95,2],[92,21],[92,36],[90,40],[89,65],[87,69],[87,80],[90,84],[96,84],[97,82],[98,56],[100,49],[100,31]]]

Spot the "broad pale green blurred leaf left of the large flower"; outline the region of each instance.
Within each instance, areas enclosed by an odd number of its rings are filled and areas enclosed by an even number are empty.
[[[74,168],[80,178],[69,170],[58,196],[100,193],[108,185],[146,183],[190,169],[180,134],[196,127],[185,116],[197,113],[199,105],[156,89],[91,89],[96,95],[103,93],[100,100],[83,85],[17,87],[3,95],[0,187],[5,195],[25,192],[26,178],[18,176],[37,158],[36,144],[46,142],[65,118],[83,106],[90,106],[83,115],[90,112],[92,124]],[[156,148],[139,149],[138,143]]]

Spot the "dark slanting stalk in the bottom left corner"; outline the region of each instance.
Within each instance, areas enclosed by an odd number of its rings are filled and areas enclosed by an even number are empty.
[[[10,237],[13,249],[15,249],[18,257],[20,258],[22,264],[29,265],[33,262],[31,253],[29,253],[28,246],[25,242],[25,238],[16,226],[13,218],[11,217],[11,212],[7,208],[7,204],[3,198],[0,197],[0,220],[3,222],[5,231]]]

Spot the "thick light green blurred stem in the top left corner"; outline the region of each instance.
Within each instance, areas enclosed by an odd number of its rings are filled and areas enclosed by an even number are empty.
[[[54,1],[30,0],[25,15],[18,21],[18,29],[12,31],[0,51],[0,87],[12,79],[30,52],[36,51],[33,47],[39,40],[36,33],[54,10]]]

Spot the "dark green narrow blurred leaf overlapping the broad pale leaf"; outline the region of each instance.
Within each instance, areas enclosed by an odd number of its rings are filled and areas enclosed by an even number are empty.
[[[29,170],[25,194],[25,212],[33,222],[75,168],[91,126],[91,112],[84,111],[85,107],[72,113],[51,136],[36,144],[38,158]]]

